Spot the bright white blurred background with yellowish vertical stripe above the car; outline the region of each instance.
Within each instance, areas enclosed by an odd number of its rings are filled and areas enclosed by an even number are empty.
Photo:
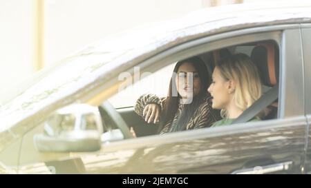
[[[106,35],[259,0],[0,0],[0,93]]]

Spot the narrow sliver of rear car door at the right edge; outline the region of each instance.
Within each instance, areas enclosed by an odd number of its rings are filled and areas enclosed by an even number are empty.
[[[303,63],[305,75],[305,114],[307,116],[308,127],[306,136],[306,147],[305,147],[305,173],[311,174],[311,147],[310,147],[310,122],[311,122],[311,25],[302,24],[301,27],[301,41],[303,42]]]

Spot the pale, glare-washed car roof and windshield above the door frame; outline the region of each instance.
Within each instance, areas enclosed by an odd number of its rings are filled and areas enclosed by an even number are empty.
[[[311,23],[311,2],[245,3],[205,8],[180,19],[147,24],[88,45],[3,96],[0,151],[50,112],[144,59],[203,36],[263,25]],[[138,40],[139,39],[139,40]]]

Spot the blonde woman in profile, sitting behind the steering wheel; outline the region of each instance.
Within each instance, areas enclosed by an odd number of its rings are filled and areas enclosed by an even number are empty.
[[[211,107],[221,109],[223,120],[211,127],[230,125],[247,107],[261,97],[261,80],[256,65],[249,56],[235,54],[222,59],[212,74],[207,91],[211,94]],[[258,117],[251,121],[258,121]]]

